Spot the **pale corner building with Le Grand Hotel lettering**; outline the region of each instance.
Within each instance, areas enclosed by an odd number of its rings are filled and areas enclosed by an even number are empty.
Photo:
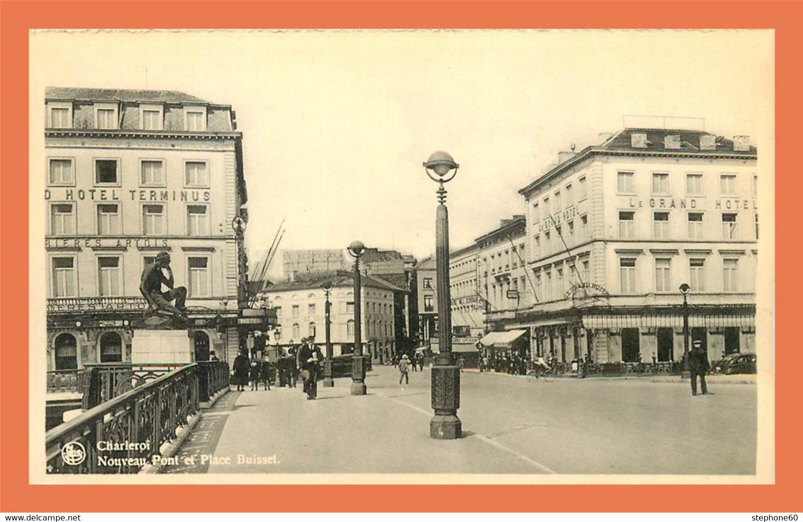
[[[561,153],[520,190],[533,295],[489,322],[528,331],[533,356],[680,361],[687,283],[709,359],[754,352],[756,158],[748,137],[653,128]]]

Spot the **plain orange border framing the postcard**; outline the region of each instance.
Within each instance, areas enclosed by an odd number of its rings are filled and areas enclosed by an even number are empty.
[[[326,511],[410,508],[444,510],[569,509],[590,511],[799,511],[803,452],[801,349],[792,338],[795,300],[793,263],[800,218],[800,167],[792,152],[801,132],[798,80],[803,55],[803,5],[797,2],[160,2],[159,20],[183,27],[580,27],[580,28],[774,28],[777,30],[777,484],[775,486],[31,486],[27,483],[28,436],[28,45],[29,28],[153,25],[145,2],[2,2],[2,471],[0,511]],[[78,63],[76,63],[78,65]],[[746,101],[745,103],[749,103]],[[797,167],[797,169],[796,169]],[[785,239],[789,239],[785,243]],[[790,251],[792,250],[792,251]],[[795,274],[797,275],[797,274]],[[795,378],[797,377],[797,379]],[[267,491],[266,491],[267,490]],[[308,495],[316,495],[310,504]],[[267,497],[264,495],[267,493]],[[359,495],[355,501],[351,497]],[[549,502],[533,504],[532,499]],[[268,503],[264,503],[264,499]],[[455,500],[462,500],[457,503]],[[471,500],[468,500],[471,499]],[[727,501],[724,502],[724,499]],[[187,501],[189,500],[189,501]],[[797,500],[797,501],[796,501]]]

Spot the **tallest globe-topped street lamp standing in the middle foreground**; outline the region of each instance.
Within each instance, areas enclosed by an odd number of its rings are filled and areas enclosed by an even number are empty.
[[[449,154],[433,153],[424,170],[438,183],[438,210],[435,218],[435,278],[438,284],[438,357],[432,365],[431,438],[460,438],[463,426],[457,416],[460,407],[460,369],[451,353],[451,298],[449,292],[449,213],[443,184],[454,179],[460,165]],[[435,175],[430,173],[430,170]],[[449,176],[449,173],[453,171]]]

